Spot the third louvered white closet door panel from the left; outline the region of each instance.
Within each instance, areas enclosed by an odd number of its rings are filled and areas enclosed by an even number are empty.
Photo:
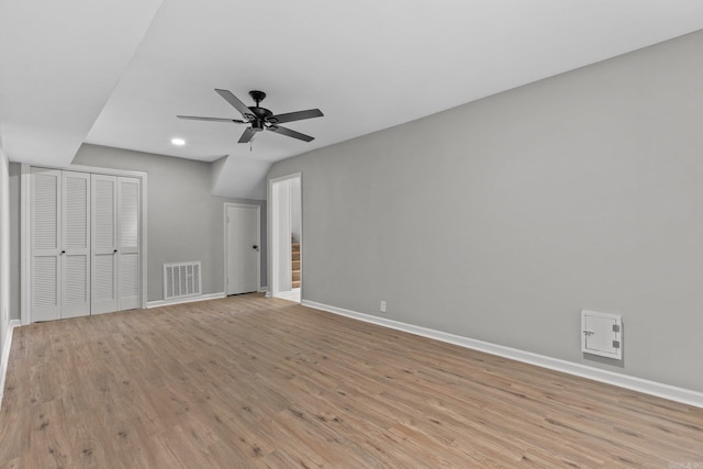
[[[91,313],[118,311],[118,178],[91,175]]]

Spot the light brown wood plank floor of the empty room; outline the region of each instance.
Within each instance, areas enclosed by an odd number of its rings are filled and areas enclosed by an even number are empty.
[[[703,410],[258,294],[15,330],[4,392],[0,467],[703,468]]]

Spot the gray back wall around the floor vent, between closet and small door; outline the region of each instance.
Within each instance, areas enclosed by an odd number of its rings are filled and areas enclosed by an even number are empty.
[[[224,291],[225,202],[261,206],[261,286],[266,286],[266,202],[210,196],[209,163],[83,145],[72,164],[147,174],[149,301],[164,298],[165,263],[200,260],[203,294]]]

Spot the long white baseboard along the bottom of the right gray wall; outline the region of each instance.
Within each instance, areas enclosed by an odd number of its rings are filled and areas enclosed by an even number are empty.
[[[448,334],[426,327],[412,324],[401,323],[399,321],[387,320],[370,314],[357,313],[355,311],[342,308],[331,306],[328,304],[317,303],[315,301],[303,300],[304,306],[315,310],[326,311],[328,313],[339,314],[367,323],[377,324],[397,331],[403,331],[410,334],[423,337],[434,338],[435,340],[458,345],[460,347],[471,348],[484,351],[491,355],[510,358],[542,368],[548,368],[581,378],[588,378],[594,381],[605,382],[607,384],[617,386],[620,388],[638,391],[645,394],[656,395],[658,398],[668,399],[670,401],[681,402],[683,404],[693,405],[703,409],[703,392],[692,391],[689,389],[677,388],[674,386],[665,384],[656,381],[649,381],[627,375],[616,373],[613,371],[601,370],[585,365],[574,364],[572,361],[561,360],[559,358],[547,357],[544,355],[533,354],[531,351],[518,350],[516,348],[505,347],[503,345],[491,344],[488,342],[477,340],[469,337],[462,337],[455,334]]]

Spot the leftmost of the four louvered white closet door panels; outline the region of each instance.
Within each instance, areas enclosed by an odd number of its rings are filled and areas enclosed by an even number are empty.
[[[60,193],[62,171],[32,168],[31,315],[32,321],[60,317]]]

